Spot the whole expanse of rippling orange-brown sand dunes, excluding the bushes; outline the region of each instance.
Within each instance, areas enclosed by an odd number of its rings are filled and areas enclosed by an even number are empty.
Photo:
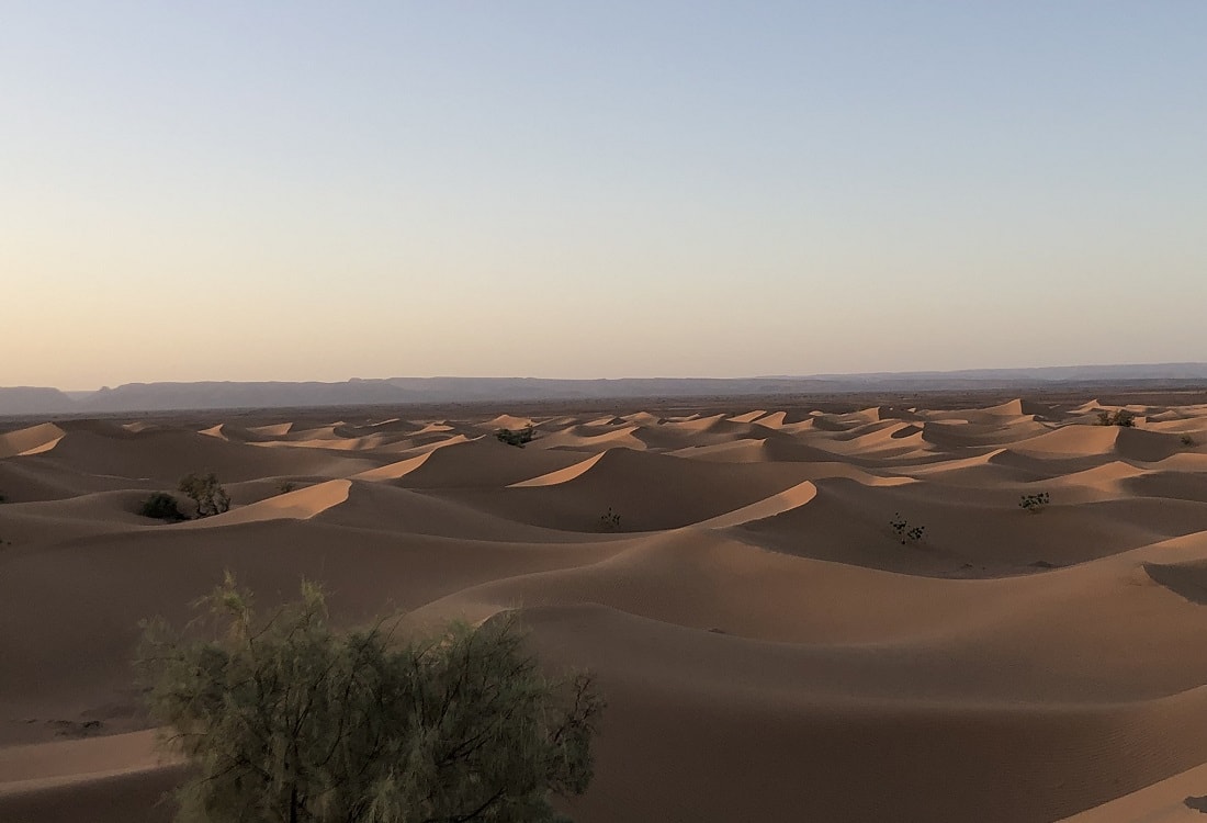
[[[1207,405],[1116,408],[0,424],[0,821],[170,819],[138,624],[223,570],[518,611],[608,701],[579,823],[1207,819]],[[194,471],[231,512],[138,514]]]

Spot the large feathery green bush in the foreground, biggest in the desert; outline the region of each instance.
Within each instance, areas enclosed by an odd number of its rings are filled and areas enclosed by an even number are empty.
[[[342,634],[316,585],[262,620],[229,574],[198,605],[210,638],[151,621],[138,658],[152,716],[193,766],[177,819],[565,821],[550,796],[590,782],[593,679],[542,676],[512,619]]]

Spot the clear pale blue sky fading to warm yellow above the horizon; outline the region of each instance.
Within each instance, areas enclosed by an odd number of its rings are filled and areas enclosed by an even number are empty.
[[[1207,2],[0,0],[0,385],[1207,360]]]

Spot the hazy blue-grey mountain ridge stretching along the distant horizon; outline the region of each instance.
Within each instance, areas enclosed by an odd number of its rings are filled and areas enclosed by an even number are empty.
[[[93,392],[0,387],[0,415],[107,414],[323,405],[387,405],[626,397],[725,397],[856,391],[1026,389],[1053,384],[1205,381],[1207,363],[1051,366],[958,372],[769,375],[754,378],[355,378],[340,383],[130,383]]]

